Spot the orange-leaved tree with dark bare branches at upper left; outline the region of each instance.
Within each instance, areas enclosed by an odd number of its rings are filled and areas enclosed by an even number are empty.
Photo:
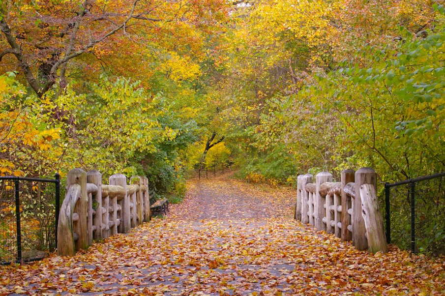
[[[101,58],[119,48],[124,49],[119,54],[138,63],[134,54],[141,59],[165,45],[197,50],[202,32],[218,27],[226,16],[224,1],[3,1],[0,9],[0,59],[9,63],[8,70],[20,71],[40,97],[58,79],[64,87],[83,67],[88,70],[85,56],[109,64]]]

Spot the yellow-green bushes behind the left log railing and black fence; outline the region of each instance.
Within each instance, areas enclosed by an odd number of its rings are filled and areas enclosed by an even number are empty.
[[[105,76],[100,85],[87,85],[88,95],[68,86],[40,99],[13,77],[3,88],[1,117],[21,120],[3,126],[10,136],[0,145],[11,153],[2,158],[4,173],[53,178],[59,171],[63,178],[81,167],[98,170],[105,182],[115,173],[147,175],[161,192],[173,190],[180,180],[175,165],[180,151],[194,141],[196,124],[180,120],[161,93]]]

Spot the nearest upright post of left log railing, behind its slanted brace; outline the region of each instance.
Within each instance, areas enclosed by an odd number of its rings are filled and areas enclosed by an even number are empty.
[[[74,213],[79,218],[73,222],[73,233],[78,234],[79,238],[75,239],[76,251],[88,249],[87,236],[87,214],[88,214],[88,193],[87,193],[87,173],[81,169],[72,169],[66,175],[66,192],[73,184],[80,185],[80,198],[74,206]]]

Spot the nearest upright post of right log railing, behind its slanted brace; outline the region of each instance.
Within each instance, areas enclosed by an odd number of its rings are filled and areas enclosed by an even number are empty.
[[[368,249],[368,240],[365,236],[366,226],[362,216],[360,186],[363,184],[371,184],[374,188],[377,188],[377,174],[371,168],[361,168],[356,171],[355,180],[356,196],[352,212],[353,245],[357,250],[364,251]]]

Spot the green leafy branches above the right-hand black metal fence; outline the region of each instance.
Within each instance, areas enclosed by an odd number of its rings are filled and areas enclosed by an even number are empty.
[[[386,180],[413,178],[445,166],[444,32],[385,51],[358,52],[368,67],[344,64],[304,94],[341,120],[345,146],[368,158]],[[320,100],[321,98],[321,100]],[[345,111],[346,110],[346,111]]]

